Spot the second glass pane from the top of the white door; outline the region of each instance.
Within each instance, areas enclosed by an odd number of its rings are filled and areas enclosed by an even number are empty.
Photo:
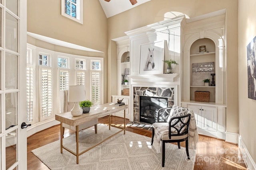
[[[6,12],[5,47],[17,52],[18,20]]]

